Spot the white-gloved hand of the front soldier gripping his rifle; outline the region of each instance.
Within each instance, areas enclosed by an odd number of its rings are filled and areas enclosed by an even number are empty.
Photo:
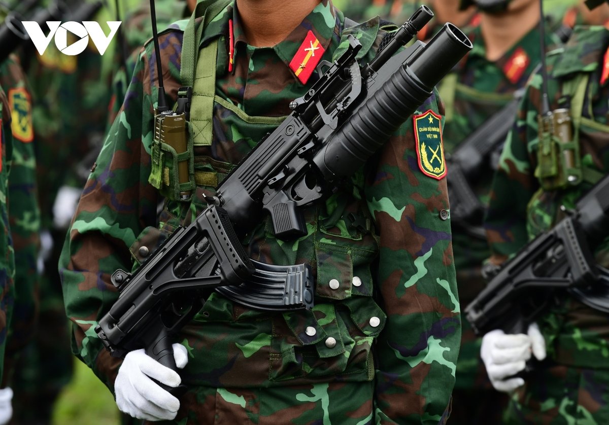
[[[185,367],[188,363],[186,347],[174,344],[172,348],[177,367]],[[116,405],[121,412],[138,419],[174,419],[180,409],[180,401],[150,378],[169,387],[177,387],[181,382],[177,372],[149,357],[144,349],[127,353],[114,382]]]

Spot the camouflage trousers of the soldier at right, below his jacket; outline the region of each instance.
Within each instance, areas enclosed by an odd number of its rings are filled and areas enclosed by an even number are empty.
[[[609,371],[549,365],[527,376],[505,412],[507,424],[609,424]]]

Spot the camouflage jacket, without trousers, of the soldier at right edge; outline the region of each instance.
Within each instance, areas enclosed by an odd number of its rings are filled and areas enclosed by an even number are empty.
[[[609,170],[609,85],[602,77],[608,45],[609,31],[604,27],[576,27],[565,47],[547,55],[551,110],[569,107],[565,102],[572,94],[566,92],[566,84],[588,77],[579,130],[580,157],[584,167],[602,173]],[[551,191],[540,188],[535,171],[539,165],[537,116],[541,111],[541,81],[541,74],[536,74],[527,86],[493,180],[485,227],[495,262],[504,261],[552,228],[564,217],[560,206],[573,208],[591,186],[581,183],[571,189]],[[607,244],[603,244],[596,251],[596,259],[607,267],[607,258]],[[560,364],[607,368],[607,314],[563,297],[541,318],[540,326],[549,355]]]

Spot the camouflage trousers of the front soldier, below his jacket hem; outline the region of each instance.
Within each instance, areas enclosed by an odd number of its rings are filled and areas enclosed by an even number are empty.
[[[373,382],[272,388],[192,388],[174,421],[160,424],[373,424]]]

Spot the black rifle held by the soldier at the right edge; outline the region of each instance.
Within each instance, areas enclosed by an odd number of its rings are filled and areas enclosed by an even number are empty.
[[[476,334],[493,329],[526,332],[526,326],[567,291],[583,303],[609,312],[606,293],[599,290],[606,288],[609,272],[595,265],[592,255],[592,249],[609,236],[609,175],[568,214],[505,263],[466,307],[467,320]]]

